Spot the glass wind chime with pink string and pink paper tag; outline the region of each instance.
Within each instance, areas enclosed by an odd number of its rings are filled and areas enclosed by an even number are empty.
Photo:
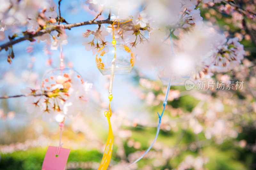
[[[41,91],[42,94],[50,92],[53,96],[58,95],[61,100],[60,102],[64,102],[65,99],[68,98],[67,91],[70,87],[72,87],[73,83],[82,83],[83,79],[79,73],[77,73],[73,69],[65,68],[65,65],[63,64],[63,56],[62,56],[62,48],[60,46],[60,68],[56,68],[53,70],[50,70],[47,72],[41,81]],[[56,87],[56,88],[55,88]],[[64,99],[65,98],[65,99]],[[46,99],[46,103],[47,103]],[[57,101],[57,99],[56,99]],[[53,115],[57,115],[61,112],[60,105],[61,103],[54,103],[54,113]],[[46,105],[46,110],[47,110]],[[46,113],[51,114],[51,113]],[[56,117],[57,118],[57,117]],[[44,162],[42,165],[42,170],[64,170],[68,155],[70,153],[70,149],[62,148],[63,143],[61,143],[61,134],[62,134],[62,128],[64,126],[64,115],[62,117],[58,117],[59,126],[60,126],[60,140],[59,140],[59,146],[49,146],[45,157]],[[56,119],[57,120],[57,119]]]

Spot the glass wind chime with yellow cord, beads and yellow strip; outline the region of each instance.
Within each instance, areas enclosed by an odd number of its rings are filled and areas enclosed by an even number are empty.
[[[130,19],[129,21],[131,21]],[[113,86],[113,78],[114,74],[124,74],[124,73],[131,73],[132,67],[134,65],[134,54],[132,53],[132,50],[125,46],[124,44],[116,44],[116,40],[114,37],[114,30],[117,30],[119,28],[120,23],[126,23],[125,22],[119,22],[117,19],[113,21],[112,24],[112,30],[113,30],[113,40],[112,44],[106,45],[100,48],[100,50],[96,54],[96,65],[103,75],[110,74],[110,82],[109,82],[109,104],[108,104],[108,111],[104,112],[104,115],[107,117],[108,120],[108,138],[107,138],[107,144],[105,147],[105,151],[100,163],[100,167],[98,170],[106,170],[108,168],[109,161],[111,159],[112,155],[112,149],[113,149],[113,132],[110,124],[110,117],[112,115],[111,109],[110,109],[110,101],[112,100],[112,86]],[[117,28],[114,28],[115,24],[118,24]]]

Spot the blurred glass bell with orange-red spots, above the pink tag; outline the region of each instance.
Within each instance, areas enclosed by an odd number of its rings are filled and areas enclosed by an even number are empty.
[[[83,78],[79,73],[70,68],[52,69],[44,74],[41,81],[42,91],[51,91],[52,89],[66,89],[68,90],[75,83],[82,83]]]

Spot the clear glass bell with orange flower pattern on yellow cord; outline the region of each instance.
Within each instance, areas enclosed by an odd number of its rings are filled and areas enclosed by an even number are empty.
[[[103,46],[97,52],[95,58],[96,66],[103,75],[111,74],[112,67],[113,74],[131,73],[134,60],[132,50],[123,44]]]

